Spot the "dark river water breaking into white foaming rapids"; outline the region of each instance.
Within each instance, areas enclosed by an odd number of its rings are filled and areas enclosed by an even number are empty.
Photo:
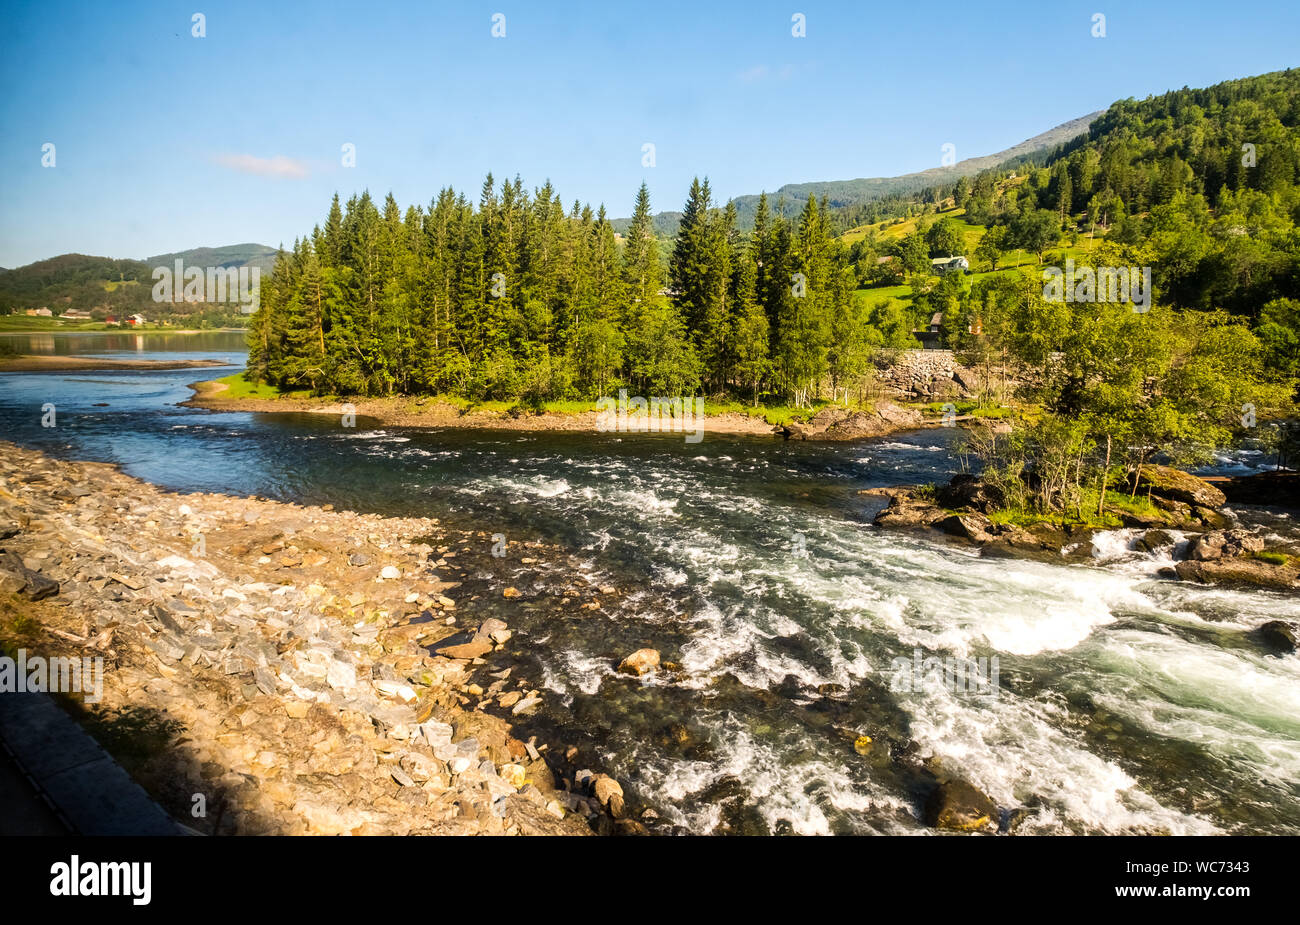
[[[169,336],[52,349],[242,361],[239,335]],[[569,561],[541,572],[515,547],[486,557],[465,590],[497,589],[482,609],[507,618],[516,672],[549,692],[529,722],[563,728],[558,741],[688,830],[922,831],[920,769],[937,765],[1026,807],[1020,831],[1300,833],[1300,659],[1249,633],[1300,616],[1296,598],[1158,581],[1170,559],[1127,550],[1126,531],[1101,537],[1091,565],[1063,565],[870,526],[857,492],[945,478],[949,431],[686,444],[176,407],[209,375],[0,374],[0,431],[169,487],[564,544]],[[55,429],[40,427],[47,401]],[[556,612],[575,569],[632,594]],[[503,583],[536,596],[503,602]],[[616,676],[641,646],[681,674]],[[918,652],[996,656],[996,696],[898,690],[893,660]],[[875,739],[867,755],[859,734]]]

